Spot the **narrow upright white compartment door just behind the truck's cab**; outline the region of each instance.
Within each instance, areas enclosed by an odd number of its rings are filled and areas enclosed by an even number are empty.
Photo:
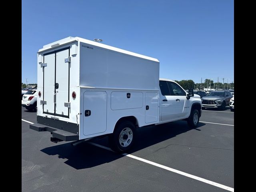
[[[158,94],[146,92],[145,122],[152,123],[158,120]]]

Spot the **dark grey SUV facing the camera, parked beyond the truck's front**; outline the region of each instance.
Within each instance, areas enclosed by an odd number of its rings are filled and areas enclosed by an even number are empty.
[[[202,97],[202,108],[220,108],[224,110],[229,106],[232,94],[229,91],[212,91]]]

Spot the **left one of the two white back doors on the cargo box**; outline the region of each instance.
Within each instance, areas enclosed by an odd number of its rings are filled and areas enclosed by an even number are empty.
[[[44,70],[43,100],[46,101],[43,112],[54,114],[55,53],[45,54],[44,63],[47,63],[47,66],[42,67]]]

